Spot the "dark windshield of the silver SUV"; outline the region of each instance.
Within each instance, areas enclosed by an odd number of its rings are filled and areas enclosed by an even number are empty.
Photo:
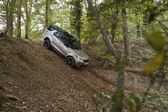
[[[80,43],[78,42],[78,40],[68,33],[65,33],[61,37],[61,40],[64,43],[64,45],[66,45],[67,47],[70,47],[70,48],[76,49],[76,50],[81,49],[81,46],[80,46]]]

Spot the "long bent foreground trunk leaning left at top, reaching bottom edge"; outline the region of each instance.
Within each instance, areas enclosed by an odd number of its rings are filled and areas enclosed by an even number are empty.
[[[118,52],[115,49],[115,47],[113,46],[113,44],[111,43],[111,39],[108,37],[108,35],[107,35],[106,31],[105,31],[104,25],[100,21],[98,11],[93,6],[92,0],[87,0],[87,2],[88,2],[88,5],[89,5],[90,9],[94,13],[97,25],[100,28],[103,40],[104,40],[107,48],[109,49],[109,51],[111,53],[114,54],[114,56],[117,59],[118,78],[117,78],[117,90],[116,90],[116,94],[120,93],[121,97],[119,96],[117,98],[118,100],[114,102],[114,107],[112,108],[111,111],[112,112],[122,112],[122,109],[123,109],[123,95],[124,95],[124,79],[125,79],[125,75],[124,75],[124,58],[121,55],[121,53]]]

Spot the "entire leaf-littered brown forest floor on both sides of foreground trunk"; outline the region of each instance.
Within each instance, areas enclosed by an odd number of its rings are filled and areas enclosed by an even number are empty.
[[[0,111],[95,112],[110,108],[117,73],[115,69],[104,69],[105,60],[90,51],[90,65],[76,69],[39,42],[0,38],[0,92],[17,99],[4,104]],[[136,62],[134,64],[140,67]],[[147,77],[126,73],[126,95],[130,92],[143,94],[148,85]],[[103,97],[97,102],[100,94]],[[160,100],[152,99],[152,102]],[[157,109],[150,106],[151,112]]]

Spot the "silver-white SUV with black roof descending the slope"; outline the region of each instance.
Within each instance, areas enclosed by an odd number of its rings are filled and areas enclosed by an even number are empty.
[[[89,56],[81,50],[81,45],[65,30],[58,26],[50,25],[43,34],[43,45],[46,48],[54,48],[65,57],[65,62],[71,67],[86,67],[89,64]]]

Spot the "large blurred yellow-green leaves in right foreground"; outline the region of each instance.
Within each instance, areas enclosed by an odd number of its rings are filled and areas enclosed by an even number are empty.
[[[149,45],[157,52],[157,54],[144,66],[144,73],[153,73],[156,71],[164,62],[166,52],[164,47],[166,45],[165,37],[161,32],[147,33],[145,39]]]

